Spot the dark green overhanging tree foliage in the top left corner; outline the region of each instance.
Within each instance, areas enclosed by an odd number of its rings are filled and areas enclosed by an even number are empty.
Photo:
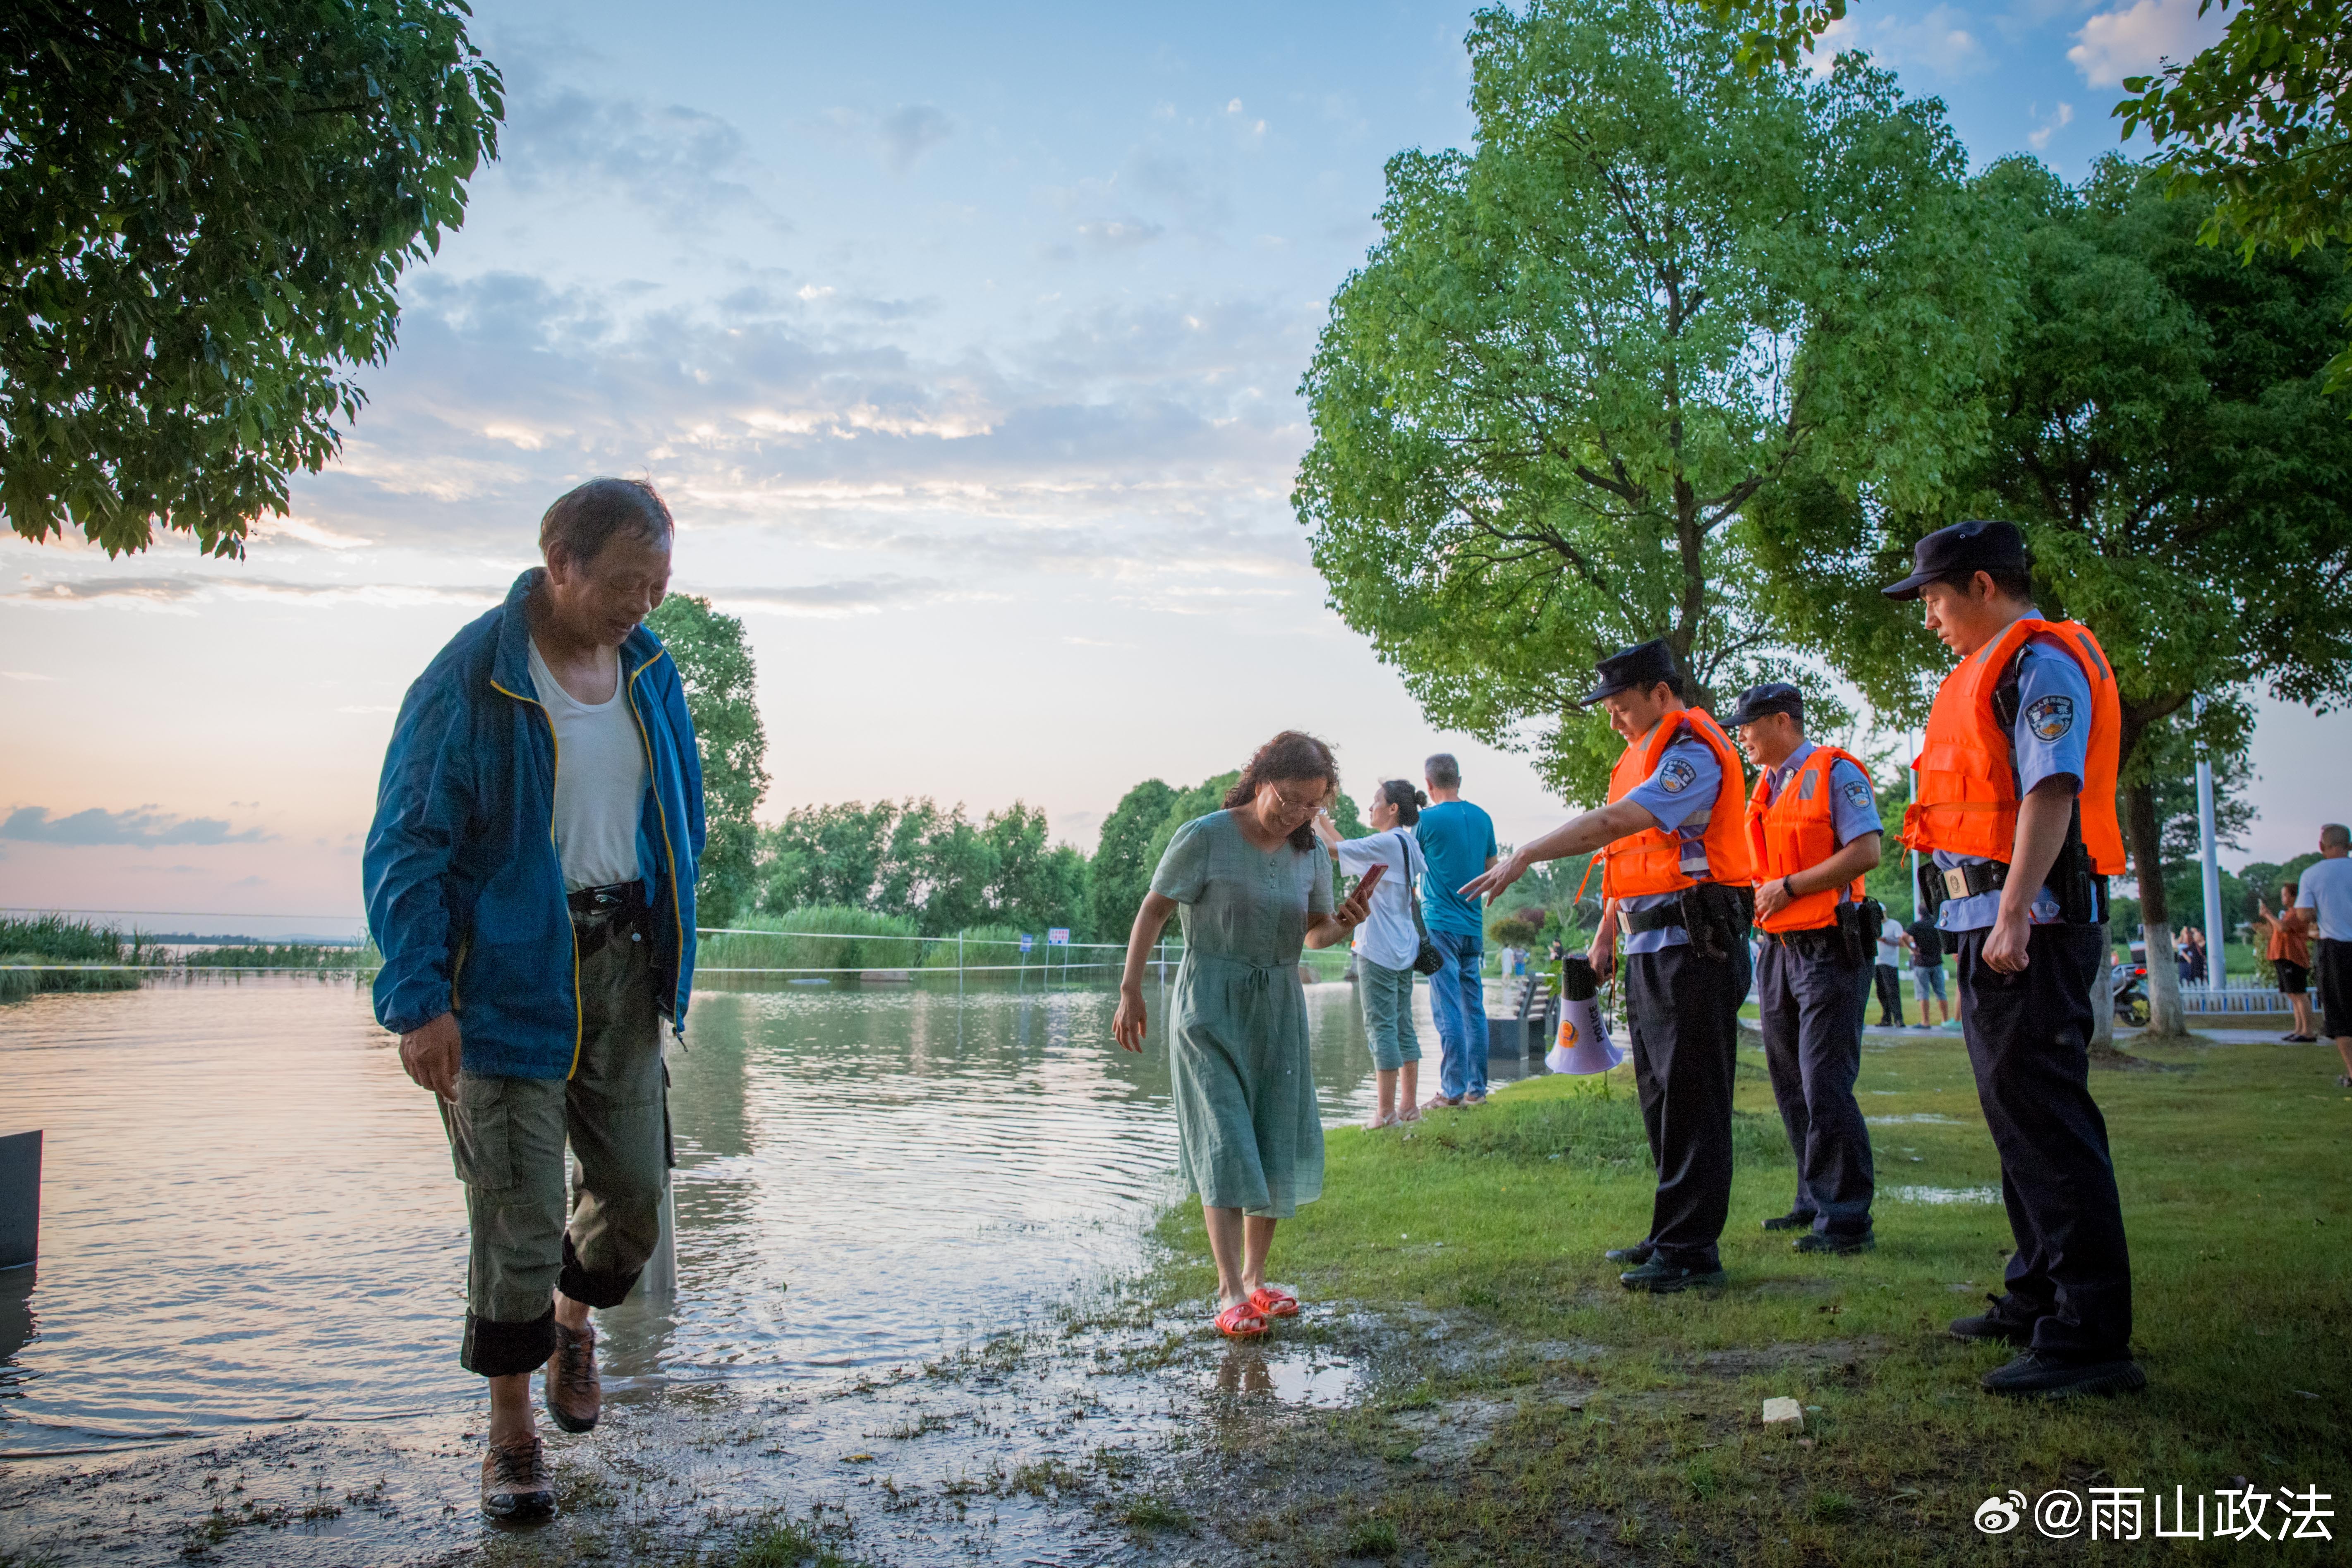
[[[496,155],[463,0],[0,7],[0,510],[242,555]]]

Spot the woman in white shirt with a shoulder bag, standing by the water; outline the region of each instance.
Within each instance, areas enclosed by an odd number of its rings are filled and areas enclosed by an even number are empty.
[[[1355,990],[1364,999],[1364,1039],[1371,1044],[1371,1065],[1381,1081],[1381,1107],[1367,1128],[1421,1119],[1416,1098],[1421,1037],[1414,1032],[1414,957],[1421,952],[1421,929],[1414,926],[1414,896],[1430,865],[1421,858],[1411,825],[1428,804],[1428,795],[1402,778],[1390,778],[1364,802],[1371,832],[1362,839],[1338,837],[1331,816],[1315,813],[1315,835],[1338,858],[1341,872],[1362,877],[1374,865],[1388,867],[1371,889],[1371,914],[1355,929]]]

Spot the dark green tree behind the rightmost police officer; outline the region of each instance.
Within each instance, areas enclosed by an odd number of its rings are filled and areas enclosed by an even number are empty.
[[[1879,585],[1931,527],[2020,522],[2039,607],[2091,625],[2114,663],[2124,835],[2164,952],[2159,785],[2187,771],[2173,743],[2241,757],[2256,686],[2314,705],[2352,696],[2352,425],[2321,393],[2352,275],[2340,252],[2241,266],[2199,244],[2199,214],[2164,197],[2164,172],[2122,158],[2077,188],[2030,158],[1980,186],[2027,256],[1985,454],[1915,512],[1788,487],[1759,508],[1759,557],[1809,614],[1802,632],[1884,715],[1917,722],[1950,658]],[[2178,1032],[2161,964],[2150,1001],[2154,1027]]]

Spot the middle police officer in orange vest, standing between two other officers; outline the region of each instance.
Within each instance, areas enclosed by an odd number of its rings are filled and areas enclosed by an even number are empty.
[[[1858,1253],[1875,1244],[1870,1128],[1853,1079],[1863,1067],[1858,980],[1879,936],[1877,905],[1863,898],[1863,877],[1879,863],[1879,804],[1851,752],[1804,738],[1795,686],[1750,686],[1731,729],[1762,769],[1748,799],[1764,931],[1757,1023],[1797,1152],[1797,1201],[1764,1229],[1804,1232],[1799,1253]]]

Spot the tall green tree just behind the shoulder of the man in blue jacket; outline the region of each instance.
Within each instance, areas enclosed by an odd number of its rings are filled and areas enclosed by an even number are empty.
[[[767,795],[767,729],[760,724],[760,672],[743,623],[710,599],[673,592],[644,625],[661,637],[687,686],[694,741],[703,752],[703,823],[708,842],[696,884],[696,917],[729,926],[757,903],[760,823]]]

